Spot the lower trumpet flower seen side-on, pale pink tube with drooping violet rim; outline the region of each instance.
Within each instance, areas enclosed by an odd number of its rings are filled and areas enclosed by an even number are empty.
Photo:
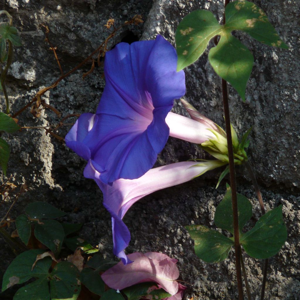
[[[84,170],[86,178],[95,179],[104,196],[103,205],[112,216],[113,253],[122,259],[124,264],[131,262],[124,249],[130,242],[130,232],[122,221],[128,209],[142,197],[157,190],[181,184],[223,165],[220,161],[184,161],[149,170],[137,179],[118,179],[112,185],[100,180],[100,173],[95,170],[91,161]]]

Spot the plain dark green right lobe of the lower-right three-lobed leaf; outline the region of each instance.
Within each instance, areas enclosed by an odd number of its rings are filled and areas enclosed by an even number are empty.
[[[240,242],[251,257],[265,259],[274,256],[287,238],[282,219],[282,205],[259,218],[255,226],[241,236]]]

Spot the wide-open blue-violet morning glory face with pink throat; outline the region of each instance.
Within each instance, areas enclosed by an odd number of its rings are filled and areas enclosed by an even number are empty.
[[[175,49],[160,35],[106,53],[96,115],[82,114],[65,137],[103,183],[139,178],[155,164],[169,137],[167,114],[185,93],[184,72],[176,66]]]

